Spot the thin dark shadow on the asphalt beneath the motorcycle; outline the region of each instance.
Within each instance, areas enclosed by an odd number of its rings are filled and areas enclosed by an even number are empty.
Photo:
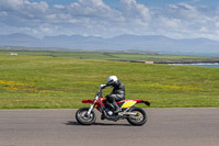
[[[81,125],[78,122],[69,121],[68,123],[65,123],[66,125],[78,125],[78,126],[88,126],[88,125]],[[92,125],[97,126],[131,126],[130,124],[114,124],[114,123],[93,123]]]

